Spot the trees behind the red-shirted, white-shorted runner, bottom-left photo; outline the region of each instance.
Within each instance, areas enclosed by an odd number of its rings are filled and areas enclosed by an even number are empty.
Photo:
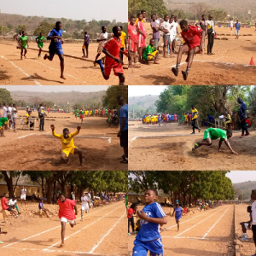
[[[73,191],[77,189],[89,189],[92,195],[100,192],[126,192],[128,185],[127,171],[1,171],[2,179],[8,187],[9,196],[15,194],[15,189],[22,176],[29,177],[32,183],[37,183],[48,203],[53,200],[56,186],[61,186],[61,192],[67,194],[67,186]]]

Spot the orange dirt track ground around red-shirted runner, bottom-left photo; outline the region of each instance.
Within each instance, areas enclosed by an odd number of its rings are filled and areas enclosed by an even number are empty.
[[[3,220],[0,221],[2,227],[4,226],[8,230],[7,235],[0,235],[0,240],[4,242],[0,244],[1,255],[85,256],[93,253],[99,256],[127,255],[127,240],[125,239],[126,212],[123,201],[90,209],[88,214],[84,213],[84,222],[77,219],[77,225],[73,229],[67,224],[65,247],[62,248],[60,247],[61,224],[57,216],[59,207],[57,205],[44,206],[55,214],[52,218],[38,217],[34,214],[34,212],[38,212],[38,204],[28,203],[26,207],[19,205],[20,218],[7,218],[6,223]],[[105,216],[106,214],[108,215]],[[80,205],[77,218],[80,218]],[[119,223],[116,224],[118,221]],[[114,224],[116,226],[113,228]],[[112,228],[113,230],[110,231]],[[109,234],[107,235],[108,231]],[[35,236],[41,232],[44,233]],[[105,238],[102,240],[103,236]],[[99,243],[101,240],[102,242]],[[14,242],[17,243],[12,244]],[[57,244],[51,247],[55,243]],[[96,245],[98,245],[96,249],[91,252]],[[43,251],[47,248],[49,248],[49,251]]]

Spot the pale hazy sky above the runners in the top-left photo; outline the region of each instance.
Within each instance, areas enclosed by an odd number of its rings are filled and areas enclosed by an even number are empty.
[[[3,14],[63,17],[73,20],[127,22],[128,19],[128,0],[8,0],[1,1],[0,9]]]

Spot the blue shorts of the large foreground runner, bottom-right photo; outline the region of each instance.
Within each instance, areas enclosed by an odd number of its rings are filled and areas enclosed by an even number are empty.
[[[164,246],[161,239],[154,241],[134,241],[132,256],[147,256],[148,251],[150,256],[163,256]]]

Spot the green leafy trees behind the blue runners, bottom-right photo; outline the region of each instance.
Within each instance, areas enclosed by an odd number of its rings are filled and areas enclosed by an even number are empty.
[[[128,190],[144,193],[149,188],[162,190],[169,195],[172,203],[176,200],[195,203],[204,201],[233,200],[235,190],[226,171],[140,171],[129,172]],[[182,196],[182,200],[181,200]]]

